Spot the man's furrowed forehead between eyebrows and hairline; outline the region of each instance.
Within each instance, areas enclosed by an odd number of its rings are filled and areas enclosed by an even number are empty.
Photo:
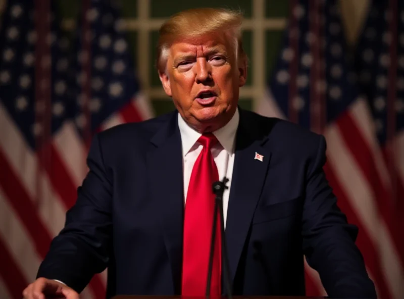
[[[210,50],[224,51],[230,53],[232,44],[225,34],[209,34],[200,37],[180,39],[170,46],[171,56],[180,55],[183,53],[202,54]]]

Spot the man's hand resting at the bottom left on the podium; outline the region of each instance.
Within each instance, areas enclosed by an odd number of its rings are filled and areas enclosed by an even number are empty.
[[[72,288],[52,279],[38,278],[22,292],[23,299],[66,298],[79,299],[79,294]]]

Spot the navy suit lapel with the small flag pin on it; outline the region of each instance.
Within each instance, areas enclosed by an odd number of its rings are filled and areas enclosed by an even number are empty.
[[[226,222],[230,278],[233,281],[271,158],[268,148],[263,147],[267,137],[260,136],[259,131],[256,118],[248,117],[240,109]],[[262,161],[255,159],[256,153],[263,156]]]

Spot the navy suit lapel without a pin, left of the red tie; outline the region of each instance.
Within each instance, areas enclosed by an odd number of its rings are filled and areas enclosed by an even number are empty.
[[[169,124],[163,126],[150,142],[147,175],[151,200],[156,203],[156,213],[164,234],[173,275],[174,294],[180,294],[184,201],[182,147],[177,113],[173,113]]]

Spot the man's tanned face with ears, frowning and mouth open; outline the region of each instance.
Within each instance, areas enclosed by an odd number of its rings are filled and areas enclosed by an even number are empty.
[[[236,60],[223,33],[179,41],[170,47],[160,79],[183,119],[200,132],[224,126],[237,108],[246,63]]]

